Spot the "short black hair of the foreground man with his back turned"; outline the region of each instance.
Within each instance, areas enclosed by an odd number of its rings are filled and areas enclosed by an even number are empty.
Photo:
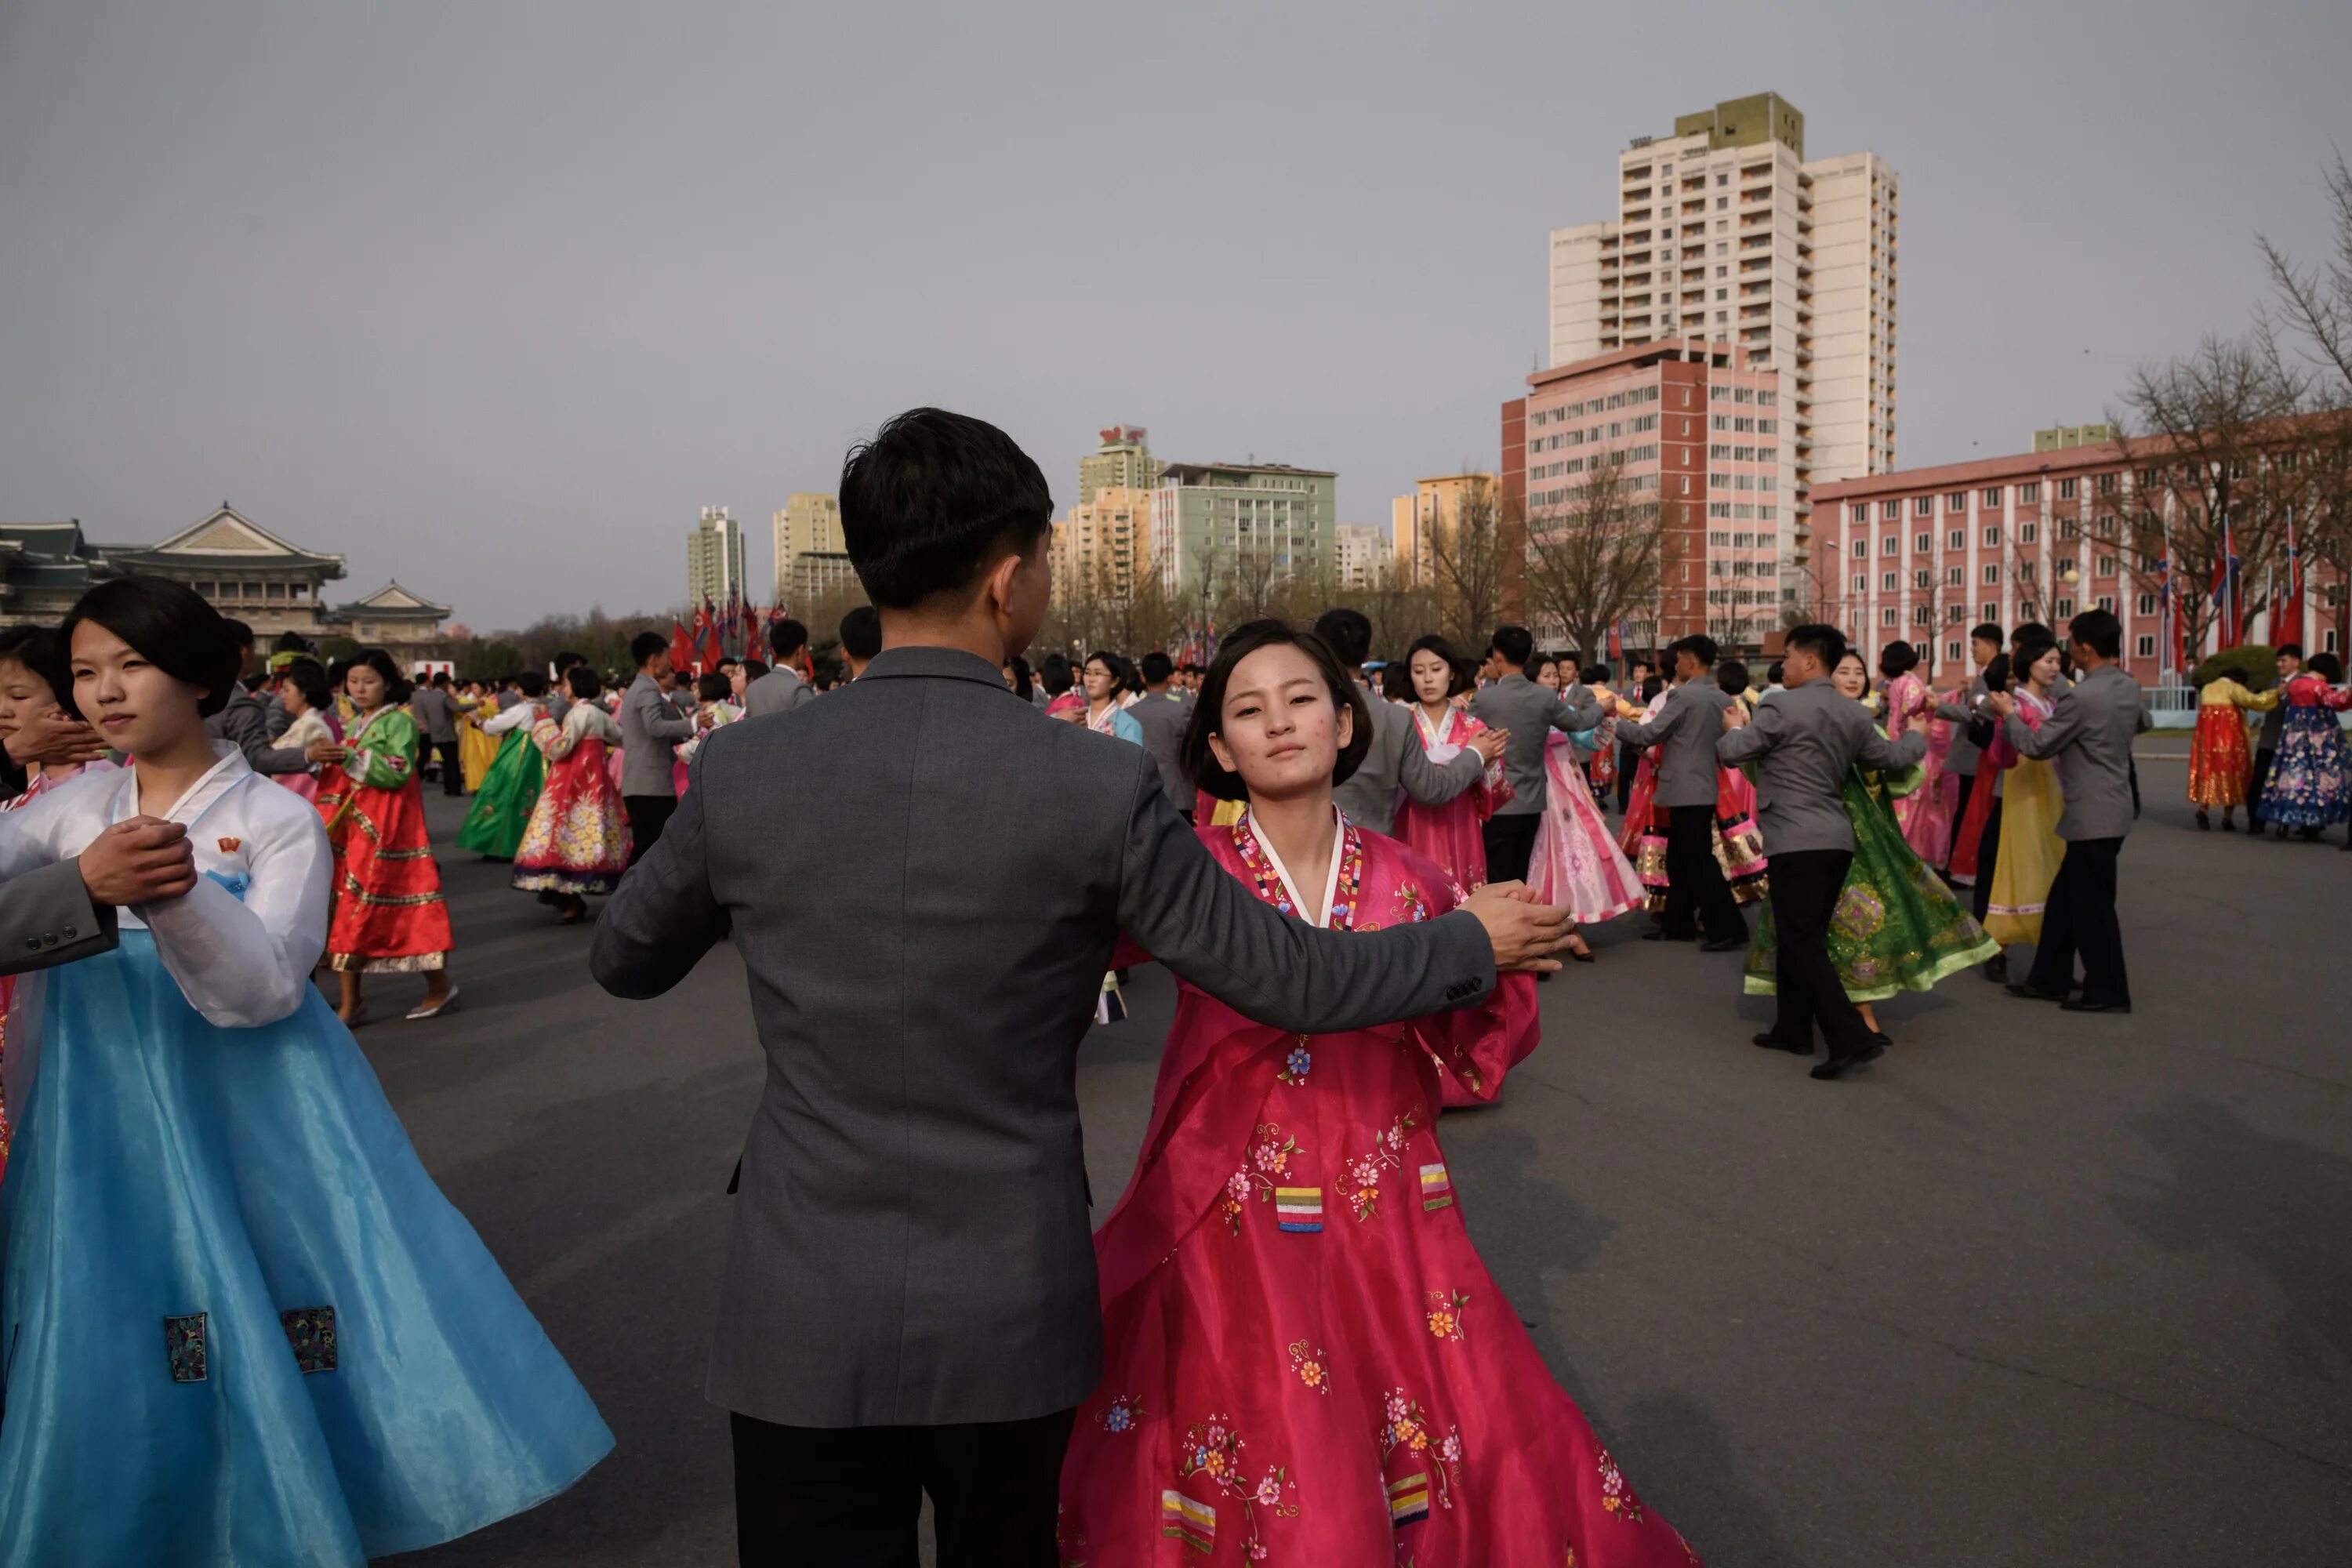
[[[960,595],[1054,527],[1044,473],[983,418],[908,409],[842,463],[842,543],[884,609]]]

